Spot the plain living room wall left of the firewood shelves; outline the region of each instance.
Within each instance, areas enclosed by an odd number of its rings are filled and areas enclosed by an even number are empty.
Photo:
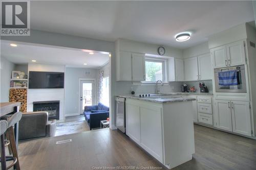
[[[9,89],[12,70],[15,65],[1,56],[1,98],[0,102],[9,102]]]

